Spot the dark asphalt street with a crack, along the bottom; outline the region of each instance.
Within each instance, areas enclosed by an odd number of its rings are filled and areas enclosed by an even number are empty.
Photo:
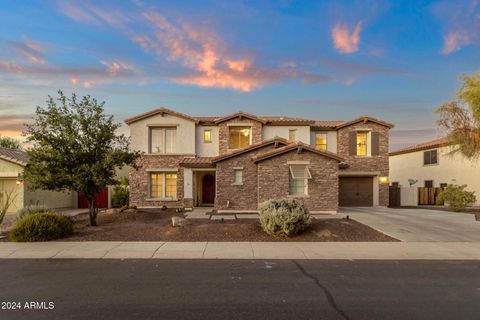
[[[478,261],[0,260],[0,279],[2,320],[480,317]]]

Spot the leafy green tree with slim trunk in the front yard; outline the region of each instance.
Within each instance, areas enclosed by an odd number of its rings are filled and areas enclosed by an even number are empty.
[[[121,126],[105,115],[105,102],[89,95],[67,98],[58,91],[48,96],[45,108],[37,107],[34,123],[24,135],[33,147],[28,150],[25,180],[32,189],[76,191],[88,201],[90,225],[97,225],[95,195],[118,183],[115,170],[125,165],[136,168],[138,151],[116,130]]]

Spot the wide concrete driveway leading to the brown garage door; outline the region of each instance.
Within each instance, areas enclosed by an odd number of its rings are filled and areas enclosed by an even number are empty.
[[[402,241],[480,242],[480,221],[473,214],[382,207],[341,208],[340,213]]]

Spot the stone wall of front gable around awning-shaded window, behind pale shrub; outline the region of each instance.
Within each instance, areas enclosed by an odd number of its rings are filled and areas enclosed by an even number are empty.
[[[309,161],[312,179],[308,180],[308,195],[289,196],[290,170],[288,161]],[[258,163],[258,202],[269,199],[295,198],[310,211],[337,211],[338,161],[312,152],[290,151]]]

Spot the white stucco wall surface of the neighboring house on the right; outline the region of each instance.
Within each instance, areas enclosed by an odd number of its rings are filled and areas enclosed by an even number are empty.
[[[436,165],[423,165],[423,153],[427,150],[390,156],[390,182],[399,182],[403,187],[409,186],[408,179],[418,180],[414,187],[423,187],[425,180],[433,180],[434,187],[441,183],[466,184],[467,190],[475,191],[480,205],[480,161],[461,154],[450,155],[452,148],[438,148]]]

